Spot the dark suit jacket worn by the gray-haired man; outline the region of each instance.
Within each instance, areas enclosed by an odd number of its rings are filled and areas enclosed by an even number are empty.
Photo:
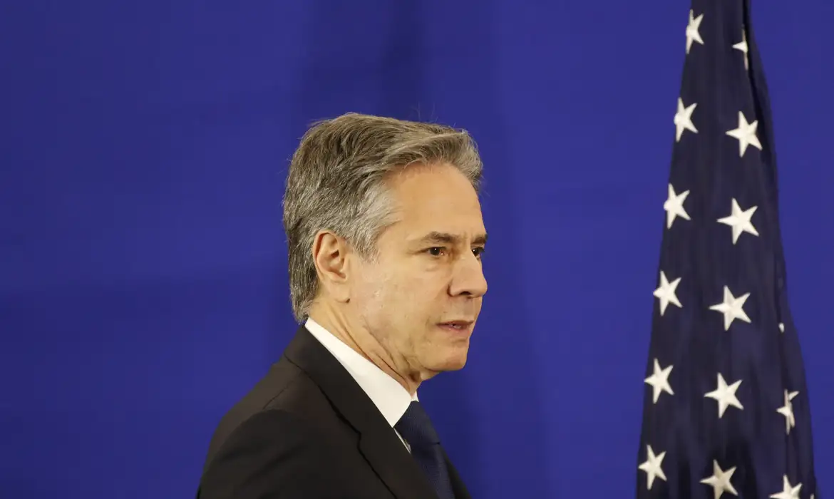
[[[470,499],[446,457],[457,499]],[[301,326],[220,421],[199,499],[435,499],[349,372]]]

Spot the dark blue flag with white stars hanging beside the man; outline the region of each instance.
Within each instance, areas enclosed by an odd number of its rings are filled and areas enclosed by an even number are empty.
[[[812,498],[810,407],[749,0],[693,0],[685,48],[636,496]]]

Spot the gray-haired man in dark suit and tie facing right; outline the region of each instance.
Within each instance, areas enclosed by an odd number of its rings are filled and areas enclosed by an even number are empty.
[[[463,131],[349,113],[289,166],[302,323],[214,434],[202,499],[469,497],[422,381],[465,365],[486,281],[480,157]]]

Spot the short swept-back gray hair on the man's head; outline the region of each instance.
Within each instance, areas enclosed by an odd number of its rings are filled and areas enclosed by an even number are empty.
[[[314,123],[293,154],[284,191],[289,292],[302,322],[319,291],[314,237],[330,230],[364,259],[393,223],[385,179],[412,164],[448,163],[480,189],[482,164],[465,130],[359,113]]]

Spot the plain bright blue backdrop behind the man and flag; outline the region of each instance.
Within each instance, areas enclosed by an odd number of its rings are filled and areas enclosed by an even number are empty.
[[[821,490],[834,475],[834,3],[756,0]],[[475,497],[633,495],[686,0],[4,2],[0,496],[188,497],[294,322],[314,119],[470,129],[490,292],[421,391]]]

